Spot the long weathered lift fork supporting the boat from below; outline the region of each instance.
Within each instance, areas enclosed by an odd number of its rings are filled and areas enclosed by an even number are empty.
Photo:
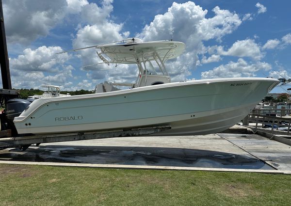
[[[133,127],[115,130],[97,130],[90,132],[75,132],[75,133],[61,133],[61,134],[40,134],[19,137],[11,136],[11,130],[0,131],[0,150],[6,148],[20,148],[26,150],[32,144],[37,146],[40,143],[55,143],[79,140],[104,139],[113,137],[132,137],[132,136],[146,136],[153,133],[171,129],[169,125],[152,126],[152,127]],[[2,136],[2,137],[1,137]]]

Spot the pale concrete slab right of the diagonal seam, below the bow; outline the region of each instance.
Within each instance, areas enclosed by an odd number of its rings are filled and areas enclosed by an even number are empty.
[[[291,146],[252,134],[219,134],[277,170],[291,170]]]

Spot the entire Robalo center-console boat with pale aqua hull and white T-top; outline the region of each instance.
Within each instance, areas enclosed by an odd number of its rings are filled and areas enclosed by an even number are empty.
[[[129,39],[96,48],[104,63],[137,64],[139,74],[132,88],[102,87],[96,94],[34,101],[14,119],[19,134],[161,125],[171,129],[155,135],[220,132],[241,121],[279,83],[272,78],[171,82],[164,63],[183,52],[181,42]]]

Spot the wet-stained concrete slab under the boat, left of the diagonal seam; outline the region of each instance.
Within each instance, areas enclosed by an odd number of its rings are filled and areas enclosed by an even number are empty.
[[[231,134],[234,135],[234,134]],[[273,167],[217,134],[123,137],[46,143],[26,151],[0,151],[2,161],[272,170]],[[3,162],[4,163],[4,162]]]

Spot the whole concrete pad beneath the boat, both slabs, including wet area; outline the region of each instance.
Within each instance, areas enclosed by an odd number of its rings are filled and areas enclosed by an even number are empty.
[[[0,151],[0,163],[291,173],[291,146],[257,134],[120,137]]]

